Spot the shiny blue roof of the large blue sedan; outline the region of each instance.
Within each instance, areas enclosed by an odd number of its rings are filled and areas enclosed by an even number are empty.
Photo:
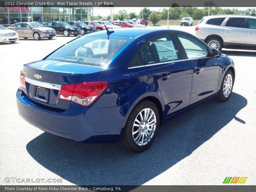
[[[156,28],[120,28],[120,29],[115,29],[115,30],[110,30],[114,31],[114,33],[107,34],[106,30],[98,31],[97,33],[89,33],[86,36],[112,36],[112,37],[123,37],[123,38],[136,38],[140,35],[143,34],[148,34],[148,33],[153,33],[158,31],[159,34],[162,33],[171,33],[171,32],[177,32],[177,30],[172,30],[172,29],[156,29]],[[181,31],[178,31],[181,32]],[[182,33],[186,33],[183,32]]]

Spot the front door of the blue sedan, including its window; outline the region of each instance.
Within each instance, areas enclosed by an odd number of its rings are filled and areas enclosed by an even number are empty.
[[[220,66],[207,45],[194,36],[175,33],[188,64],[192,68],[190,104],[205,99],[218,91]]]

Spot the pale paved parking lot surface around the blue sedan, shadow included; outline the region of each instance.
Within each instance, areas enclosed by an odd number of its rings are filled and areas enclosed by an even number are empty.
[[[194,33],[194,26],[171,28]],[[221,185],[225,177],[248,177],[242,185],[255,185],[255,51],[223,49],[236,67],[230,100],[210,100],[176,117],[160,127],[147,151],[135,154],[115,143],[60,138],[19,116],[15,93],[22,65],[42,59],[74,38],[0,44],[1,185],[31,184],[6,183],[6,177],[62,178],[65,185]]]

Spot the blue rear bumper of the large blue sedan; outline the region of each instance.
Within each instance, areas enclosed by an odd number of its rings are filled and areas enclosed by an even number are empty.
[[[18,89],[16,93],[21,117],[37,128],[75,141],[118,142],[126,118],[120,107],[97,108],[70,104],[65,111],[51,111],[30,101]]]

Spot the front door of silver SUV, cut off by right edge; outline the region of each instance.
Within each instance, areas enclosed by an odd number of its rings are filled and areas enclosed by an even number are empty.
[[[246,46],[256,47],[256,19],[247,19]]]

